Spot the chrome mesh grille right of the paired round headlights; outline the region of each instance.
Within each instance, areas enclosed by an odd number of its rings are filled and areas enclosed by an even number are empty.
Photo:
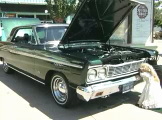
[[[114,77],[137,71],[144,60],[108,66],[108,77]]]

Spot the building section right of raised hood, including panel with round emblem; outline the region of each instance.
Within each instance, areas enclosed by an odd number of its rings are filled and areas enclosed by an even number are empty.
[[[129,17],[125,19],[123,24],[114,33],[113,40],[117,44],[147,47],[156,49],[153,44],[153,0],[137,0],[143,4],[139,4]]]

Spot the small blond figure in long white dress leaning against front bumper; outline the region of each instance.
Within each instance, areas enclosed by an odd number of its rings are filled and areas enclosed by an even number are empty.
[[[146,85],[138,105],[144,109],[162,108],[162,88],[154,68],[148,63],[142,63],[140,66],[140,76],[146,81]]]

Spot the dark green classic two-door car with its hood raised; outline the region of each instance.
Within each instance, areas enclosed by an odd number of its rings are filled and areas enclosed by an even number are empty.
[[[129,0],[84,0],[70,25],[15,27],[0,43],[6,73],[18,71],[50,85],[56,103],[69,107],[130,91],[143,62],[156,64],[157,51],[111,45],[109,39],[136,7]]]

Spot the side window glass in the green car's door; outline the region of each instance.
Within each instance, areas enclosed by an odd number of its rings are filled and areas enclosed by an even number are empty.
[[[20,44],[36,44],[32,28],[21,28],[15,34],[12,42]]]

